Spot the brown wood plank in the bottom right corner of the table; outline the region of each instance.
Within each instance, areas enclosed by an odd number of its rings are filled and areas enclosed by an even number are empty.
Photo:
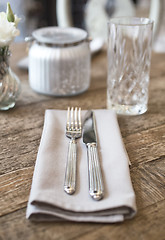
[[[139,211],[135,220],[114,225],[105,224],[75,239],[163,240],[165,236],[163,222],[165,222],[165,205],[161,201]]]

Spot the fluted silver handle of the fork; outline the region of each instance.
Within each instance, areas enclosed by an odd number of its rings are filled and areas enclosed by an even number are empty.
[[[76,190],[76,160],[77,144],[75,139],[71,139],[68,148],[68,158],[65,172],[64,191],[73,194]]]

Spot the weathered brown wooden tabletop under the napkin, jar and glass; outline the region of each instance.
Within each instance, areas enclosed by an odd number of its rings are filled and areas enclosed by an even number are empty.
[[[24,44],[12,46],[11,66],[22,83],[14,109],[0,112],[0,240],[165,239],[165,54],[152,55],[148,112],[119,117],[132,162],[138,213],[117,224],[32,223],[25,219],[34,164],[47,108],[106,108],[106,52],[92,59],[91,86],[82,95],[55,98],[31,90],[27,71],[17,67]]]

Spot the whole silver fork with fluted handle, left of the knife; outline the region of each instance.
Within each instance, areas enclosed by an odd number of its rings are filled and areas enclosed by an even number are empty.
[[[68,107],[66,136],[70,138],[67,165],[65,172],[64,191],[73,194],[76,190],[76,161],[77,161],[77,143],[76,139],[80,138],[81,129],[81,108]]]

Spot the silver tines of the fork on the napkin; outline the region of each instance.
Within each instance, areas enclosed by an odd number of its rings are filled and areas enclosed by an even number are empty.
[[[68,107],[66,129],[68,131],[81,130],[81,108]]]

